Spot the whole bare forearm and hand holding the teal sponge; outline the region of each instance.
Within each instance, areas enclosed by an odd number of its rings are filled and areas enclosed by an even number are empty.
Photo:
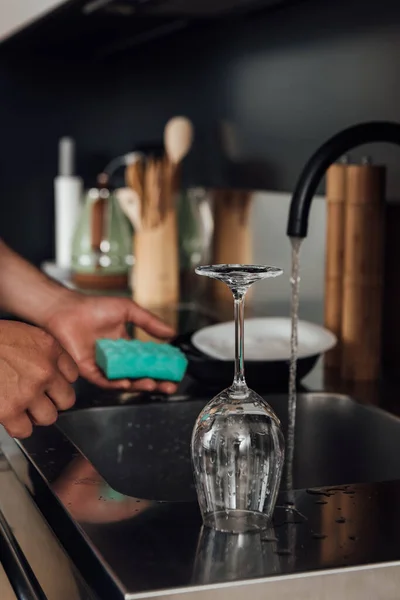
[[[48,331],[72,356],[83,377],[105,388],[174,393],[176,385],[170,382],[157,385],[151,379],[107,381],[95,363],[96,340],[127,337],[128,322],[154,337],[172,337],[174,332],[154,315],[128,298],[90,297],[71,292],[18,256],[2,240],[0,273],[0,308]],[[0,405],[1,402],[0,389]]]

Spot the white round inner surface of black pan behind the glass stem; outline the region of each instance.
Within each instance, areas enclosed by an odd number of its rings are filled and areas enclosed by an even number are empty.
[[[336,345],[336,336],[314,323],[299,321],[299,358],[327,352]],[[233,321],[211,325],[196,331],[192,344],[211,358],[235,358],[235,324]],[[271,317],[246,319],[244,327],[245,360],[287,361],[290,358],[290,319]]]

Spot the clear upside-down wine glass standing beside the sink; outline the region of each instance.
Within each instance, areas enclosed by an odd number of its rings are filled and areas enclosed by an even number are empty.
[[[269,526],[284,461],[280,423],[269,404],[244,377],[244,299],[249,287],[282,270],[262,265],[196,268],[232,290],[235,314],[235,374],[197,418],[192,461],[204,525],[244,533]]]

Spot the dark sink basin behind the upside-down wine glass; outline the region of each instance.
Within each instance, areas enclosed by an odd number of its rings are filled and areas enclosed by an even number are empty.
[[[77,410],[61,415],[58,427],[121,494],[192,501],[190,438],[207,401]],[[287,396],[268,402],[285,432]],[[346,396],[300,395],[295,443],[296,489],[400,479],[400,420]]]

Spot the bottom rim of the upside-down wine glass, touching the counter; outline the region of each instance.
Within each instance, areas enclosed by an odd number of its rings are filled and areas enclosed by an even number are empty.
[[[204,525],[225,533],[247,533],[263,531],[270,526],[264,513],[251,510],[221,510],[204,515]]]

